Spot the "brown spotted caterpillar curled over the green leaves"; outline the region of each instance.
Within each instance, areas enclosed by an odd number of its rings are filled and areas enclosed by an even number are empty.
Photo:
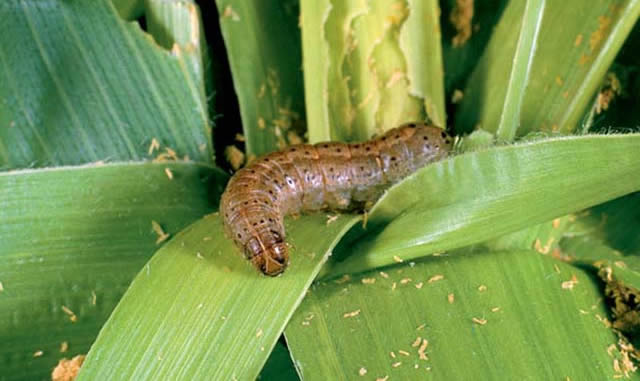
[[[444,130],[409,123],[363,143],[299,144],[257,159],[236,172],[222,194],[226,234],[266,275],[289,261],[284,216],[299,212],[362,210],[392,184],[445,157]]]

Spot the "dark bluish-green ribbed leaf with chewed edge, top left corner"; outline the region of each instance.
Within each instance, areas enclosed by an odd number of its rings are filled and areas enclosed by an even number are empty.
[[[212,159],[200,85],[108,1],[0,2],[0,167]]]

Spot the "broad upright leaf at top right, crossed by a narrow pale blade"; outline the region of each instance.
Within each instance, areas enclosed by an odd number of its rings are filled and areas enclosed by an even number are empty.
[[[524,7],[512,1],[505,9],[469,78],[458,131],[496,131]],[[548,2],[517,134],[575,130],[639,14],[637,0]]]

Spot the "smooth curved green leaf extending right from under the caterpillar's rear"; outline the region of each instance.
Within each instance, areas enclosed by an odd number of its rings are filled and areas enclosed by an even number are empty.
[[[406,260],[479,243],[640,190],[639,145],[638,134],[554,138],[430,165],[374,206],[368,226],[382,231],[342,246],[355,254],[334,275],[394,263],[400,251]]]

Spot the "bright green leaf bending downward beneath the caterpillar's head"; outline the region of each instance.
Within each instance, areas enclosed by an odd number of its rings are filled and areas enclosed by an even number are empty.
[[[242,258],[217,213],[191,225],[138,274],[78,380],[254,379],[336,241],[358,220],[288,221],[291,265],[277,278]]]

